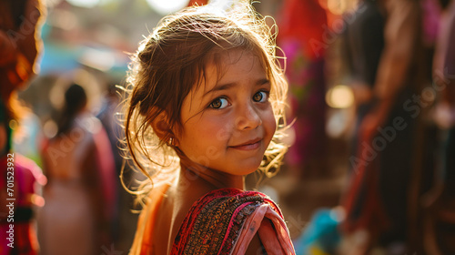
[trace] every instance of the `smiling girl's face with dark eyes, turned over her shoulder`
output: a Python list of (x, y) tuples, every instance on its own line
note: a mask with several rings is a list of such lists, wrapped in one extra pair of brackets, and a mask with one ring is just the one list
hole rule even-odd
[(259, 167), (275, 132), (270, 83), (258, 56), (247, 51), (231, 50), (220, 61), (221, 70), (209, 63), (205, 86), (185, 98), (177, 147), (198, 165), (247, 175)]

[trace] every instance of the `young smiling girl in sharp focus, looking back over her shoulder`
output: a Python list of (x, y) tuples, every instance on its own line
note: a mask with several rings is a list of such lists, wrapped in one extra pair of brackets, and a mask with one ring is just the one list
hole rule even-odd
[(258, 168), (273, 175), (287, 149), (278, 138), (288, 85), (276, 60), (249, 5), (187, 8), (139, 46), (126, 145), (148, 181), (130, 254), (295, 253), (278, 206), (243, 190)]

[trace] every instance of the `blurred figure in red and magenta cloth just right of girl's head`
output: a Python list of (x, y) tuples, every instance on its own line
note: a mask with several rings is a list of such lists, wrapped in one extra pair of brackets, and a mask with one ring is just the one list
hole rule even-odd
[(278, 19), (278, 45), (286, 55), (286, 76), (289, 83), (289, 119), (294, 144), (289, 148), (286, 167), (295, 179), (323, 176), (327, 166), (326, 103), (324, 42), (327, 27), (326, 11), (318, 1), (286, 0)]

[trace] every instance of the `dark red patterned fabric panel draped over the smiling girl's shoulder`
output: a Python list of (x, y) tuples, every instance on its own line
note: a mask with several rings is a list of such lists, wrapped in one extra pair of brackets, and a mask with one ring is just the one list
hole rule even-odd
[(278, 206), (262, 193), (239, 189), (208, 193), (188, 212), (171, 254), (230, 254), (245, 219), (261, 203), (282, 218)]

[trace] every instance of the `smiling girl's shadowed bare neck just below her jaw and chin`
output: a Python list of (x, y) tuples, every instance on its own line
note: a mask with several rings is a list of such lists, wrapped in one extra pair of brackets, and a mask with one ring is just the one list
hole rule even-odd
[(180, 163), (180, 179), (186, 181), (197, 182), (198, 184), (206, 185), (207, 189), (245, 189), (245, 178), (243, 176), (230, 175), (215, 169), (206, 168), (197, 165), (194, 162), (186, 164)]

